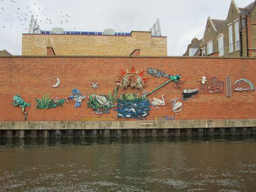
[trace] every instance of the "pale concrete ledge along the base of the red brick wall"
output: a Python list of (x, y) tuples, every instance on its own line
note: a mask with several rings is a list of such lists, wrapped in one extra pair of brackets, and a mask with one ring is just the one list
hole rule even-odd
[(0, 130), (251, 128), (256, 119), (169, 121), (0, 122)]

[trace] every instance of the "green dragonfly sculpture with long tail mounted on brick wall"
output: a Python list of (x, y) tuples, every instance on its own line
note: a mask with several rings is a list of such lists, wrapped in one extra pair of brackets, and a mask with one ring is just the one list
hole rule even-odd
[(164, 73), (163, 71), (154, 69), (154, 68), (149, 68), (148, 70), (149, 75), (152, 75), (153, 77), (166, 77), (169, 80), (166, 81), (164, 84), (158, 86), (157, 88), (155, 88), (153, 91), (149, 92), (147, 94), (147, 96), (149, 96), (150, 94), (154, 93), (155, 91), (159, 90), (161, 87), (165, 86), (166, 84), (170, 83), (171, 81), (174, 81), (175, 83), (175, 87), (180, 89), (180, 85), (179, 84), (183, 84), (185, 81), (181, 81), (181, 76), (180, 75), (169, 75), (167, 73)]

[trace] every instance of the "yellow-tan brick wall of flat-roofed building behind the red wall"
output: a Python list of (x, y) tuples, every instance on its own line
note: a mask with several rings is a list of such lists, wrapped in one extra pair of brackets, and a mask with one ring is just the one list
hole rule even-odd
[(167, 37), (135, 31), (130, 36), (22, 34), (22, 55), (47, 55), (47, 47), (56, 55), (128, 56), (140, 49), (140, 55), (167, 56)]

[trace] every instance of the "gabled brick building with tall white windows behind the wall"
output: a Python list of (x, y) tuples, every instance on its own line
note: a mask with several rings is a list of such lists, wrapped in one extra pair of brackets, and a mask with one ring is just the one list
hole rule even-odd
[(231, 0), (225, 20), (208, 17), (203, 38), (194, 38), (183, 56), (256, 57), (256, 1), (238, 8)]

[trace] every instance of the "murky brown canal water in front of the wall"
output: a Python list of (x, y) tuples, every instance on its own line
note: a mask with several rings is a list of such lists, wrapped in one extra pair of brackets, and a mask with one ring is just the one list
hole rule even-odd
[(256, 137), (1, 139), (0, 191), (256, 191)]

